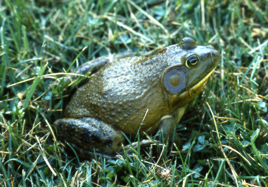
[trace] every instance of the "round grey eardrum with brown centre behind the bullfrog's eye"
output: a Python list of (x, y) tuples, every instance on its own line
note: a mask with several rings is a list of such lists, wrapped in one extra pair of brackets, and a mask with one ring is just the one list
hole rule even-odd
[(171, 93), (180, 92), (186, 85), (186, 74), (178, 67), (170, 68), (163, 76), (163, 85)]

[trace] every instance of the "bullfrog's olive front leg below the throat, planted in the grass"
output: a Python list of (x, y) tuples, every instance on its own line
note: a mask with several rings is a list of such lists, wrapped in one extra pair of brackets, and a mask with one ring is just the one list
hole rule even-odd
[[(158, 129), (161, 130), (160, 132), (163, 133), (164, 142), (166, 142), (168, 137), (169, 137), (169, 141), (172, 141), (174, 131), (176, 130), (175, 126), (178, 124), (181, 117), (183, 116), (185, 109), (186, 109), (186, 106), (180, 107), (180, 108), (176, 109), (172, 114), (164, 115), (160, 119)], [(176, 143), (176, 144), (179, 141), (179, 137), (178, 137), (178, 134), (176, 133), (176, 131), (175, 131), (173, 140), (174, 140), (174, 143)]]

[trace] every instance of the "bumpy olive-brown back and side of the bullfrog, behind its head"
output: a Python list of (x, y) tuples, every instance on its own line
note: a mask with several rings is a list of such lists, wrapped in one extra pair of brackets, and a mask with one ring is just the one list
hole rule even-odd
[[(159, 96), (163, 94), (159, 86), (165, 66), (147, 57), (111, 62), (77, 90), (65, 109), (65, 116), (96, 117), (113, 123), (125, 133), (130, 129), (137, 132), (137, 124), (142, 122), (147, 109), (149, 113), (159, 110), (156, 114), (161, 114), (165, 107), (163, 100), (154, 100), (163, 99)], [(156, 125), (155, 119), (146, 121), (151, 121), (149, 126)]]

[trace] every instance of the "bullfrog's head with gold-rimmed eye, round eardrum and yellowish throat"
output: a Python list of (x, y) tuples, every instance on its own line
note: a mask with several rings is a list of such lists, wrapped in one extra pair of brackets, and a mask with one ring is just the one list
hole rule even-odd
[(161, 82), (170, 107), (181, 107), (192, 100), (204, 87), (219, 63), (219, 52), (208, 46), (197, 46), (191, 38), (183, 38), (169, 46)]

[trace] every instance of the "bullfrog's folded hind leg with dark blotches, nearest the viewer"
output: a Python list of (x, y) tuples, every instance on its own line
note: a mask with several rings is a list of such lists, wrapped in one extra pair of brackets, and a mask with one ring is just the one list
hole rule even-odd
[(122, 149), (124, 137), (120, 129), (97, 118), (63, 118), (55, 121), (53, 125), (58, 136), (75, 145), (81, 156), (94, 153), (94, 149), (98, 153), (115, 155)]

